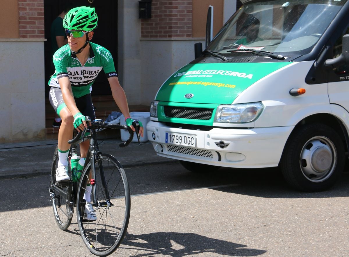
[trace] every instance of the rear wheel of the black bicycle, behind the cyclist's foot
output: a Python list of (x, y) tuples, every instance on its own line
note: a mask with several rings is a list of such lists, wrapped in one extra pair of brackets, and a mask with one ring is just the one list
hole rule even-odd
[[(69, 152), (70, 154), (70, 152)], [(52, 168), (51, 168), (51, 180), (50, 180), (50, 196), (53, 207), (54, 219), (57, 225), (62, 230), (67, 230), (72, 222), (74, 214), (74, 194), (73, 183), (67, 182), (57, 184), (55, 175), (58, 163), (58, 145), (54, 151)], [(70, 170), (70, 167), (69, 167)], [(55, 186), (54, 186), (55, 185)], [(60, 192), (61, 189), (65, 194)]]

